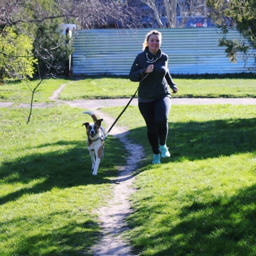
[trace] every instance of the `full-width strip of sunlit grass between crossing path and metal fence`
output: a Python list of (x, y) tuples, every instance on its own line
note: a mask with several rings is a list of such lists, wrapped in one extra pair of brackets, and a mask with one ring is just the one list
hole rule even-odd
[[(179, 93), (173, 97), (256, 97), (256, 80), (253, 75), (234, 76), (173, 76)], [(31, 85), (38, 80), (31, 82)], [(68, 84), (60, 95), (62, 100), (129, 98), (136, 92), (138, 83), (128, 77), (74, 77), (49, 79), (40, 84), (35, 102), (52, 102), (49, 97), (61, 84)], [(22, 82), (0, 86), (0, 100), (29, 104), (31, 91)]]

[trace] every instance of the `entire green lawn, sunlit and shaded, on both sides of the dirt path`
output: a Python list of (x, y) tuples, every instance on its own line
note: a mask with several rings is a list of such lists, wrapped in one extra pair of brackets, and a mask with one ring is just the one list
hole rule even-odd
[[(205, 87), (207, 95), (213, 95), (215, 79), (202, 78), (177, 77), (182, 79), (180, 93), (189, 81), (196, 81), (202, 82), (196, 92)], [(244, 92), (234, 86), (250, 79), (232, 81), (229, 97), (246, 93), (255, 97), (253, 80)], [(75, 92), (69, 99), (79, 99), (86, 88), (95, 90), (95, 84), (83, 85), (87, 80), (49, 81), (35, 100), (46, 101), (63, 82), (68, 85), (61, 97), (65, 99), (69, 91)], [(108, 84), (113, 78), (95, 78), (95, 83), (99, 81), (107, 89), (113, 86)], [(136, 90), (138, 84), (131, 83), (132, 88), (125, 81), (127, 94)], [(0, 93), (8, 89), (4, 100), (20, 103), (23, 97), (27, 100), (26, 90), (20, 88), (19, 83), (4, 84)], [(100, 236), (95, 209), (111, 198), (111, 179), (126, 156), (124, 145), (110, 134), (99, 174), (92, 176), (82, 111), (68, 106), (35, 108), (27, 125), (28, 109), (0, 108), (0, 255), (92, 255), (90, 248)], [(122, 108), (104, 111), (116, 117)], [(151, 164), (138, 108), (129, 106), (116, 125), (129, 127), (129, 137), (146, 152), (135, 172), (134, 212), (127, 218), (131, 230), (125, 232), (134, 254), (256, 254), (255, 106), (172, 106), (167, 141), (172, 157), (161, 159), (161, 165)]]

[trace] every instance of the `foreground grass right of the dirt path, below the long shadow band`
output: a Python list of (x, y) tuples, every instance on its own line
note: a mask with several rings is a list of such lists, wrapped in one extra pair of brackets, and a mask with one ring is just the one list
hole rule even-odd
[(184, 161), (143, 172), (129, 217), (137, 252), (255, 255), (253, 158), (240, 154)]

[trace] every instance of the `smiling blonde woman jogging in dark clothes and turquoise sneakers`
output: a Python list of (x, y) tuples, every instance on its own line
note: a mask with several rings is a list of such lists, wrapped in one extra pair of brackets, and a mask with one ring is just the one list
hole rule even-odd
[(170, 88), (173, 93), (178, 92), (168, 70), (168, 56), (160, 49), (161, 41), (159, 31), (147, 33), (143, 51), (134, 60), (129, 74), (131, 81), (140, 82), (138, 106), (147, 125), (153, 164), (161, 163), (161, 157), (170, 157), (166, 147), (168, 115), (171, 109)]

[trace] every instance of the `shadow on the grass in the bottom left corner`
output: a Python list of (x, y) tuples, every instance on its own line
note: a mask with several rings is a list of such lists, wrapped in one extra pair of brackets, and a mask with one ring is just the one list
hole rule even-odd
[[(11, 245), (10, 247), (13, 247), (14, 250), (12, 248), (8, 253), (9, 248), (6, 248), (3, 253), (0, 249), (1, 255), (93, 255), (89, 252), (89, 248), (100, 236), (99, 224), (87, 214), (82, 215), (83, 221), (78, 223), (75, 220), (67, 220), (67, 223), (61, 227), (52, 221), (54, 219), (60, 220), (63, 216), (68, 215), (70, 216), (69, 211), (54, 211), (52, 214), (45, 214), (44, 217), (13, 218), (6, 223), (2, 222), (1, 229), (3, 231), (10, 226), (22, 227), (24, 234), (13, 234), (16, 237), (15, 243), (8, 245)], [(52, 227), (55, 225), (56, 227)], [(8, 234), (5, 239), (8, 239)]]

